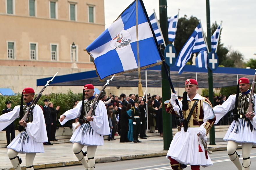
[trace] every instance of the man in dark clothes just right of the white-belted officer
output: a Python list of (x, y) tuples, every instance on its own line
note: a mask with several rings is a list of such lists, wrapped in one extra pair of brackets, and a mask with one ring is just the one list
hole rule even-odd
[(148, 137), (146, 135), (146, 118), (147, 118), (147, 115), (146, 115), (147, 105), (146, 105), (146, 103), (144, 104), (143, 100), (139, 101), (139, 108), (140, 108), (140, 111), (141, 111), (141, 122), (142, 122), (141, 130), (140, 130), (140, 138), (141, 139), (147, 139), (146, 137)]

